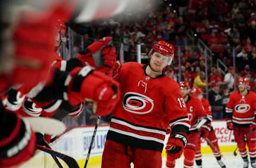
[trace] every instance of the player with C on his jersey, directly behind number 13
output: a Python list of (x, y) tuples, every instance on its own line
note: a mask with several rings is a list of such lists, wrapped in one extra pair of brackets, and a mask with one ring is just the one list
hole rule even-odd
[[(188, 132), (188, 145), (184, 149), (184, 167), (190, 168), (194, 165), (194, 159), (195, 159), (195, 150), (196, 150), (196, 144), (199, 137), (199, 132), (197, 130), (197, 124), (201, 119), (205, 118), (207, 120), (207, 123), (210, 122), (209, 117), (207, 117), (207, 114), (204, 110), (203, 104), (200, 99), (189, 95), (190, 86), (187, 81), (181, 81), (180, 82), (180, 89), (181, 94), (184, 98), (182, 103), (186, 103), (187, 110), (188, 110), (188, 117), (189, 121), (191, 123), (191, 128), (189, 128)], [(205, 123), (206, 124), (206, 123)], [(200, 128), (202, 137), (206, 137), (209, 134), (209, 131), (203, 126)], [(166, 167), (175, 167), (175, 159), (171, 157), (170, 153), (167, 152), (167, 160), (166, 160)]]

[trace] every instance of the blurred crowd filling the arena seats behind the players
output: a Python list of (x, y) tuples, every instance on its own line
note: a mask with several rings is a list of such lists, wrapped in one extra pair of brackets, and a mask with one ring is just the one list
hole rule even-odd
[[(143, 44), (144, 53), (149, 53), (150, 47), (159, 40), (181, 46), (181, 76), (178, 47), (175, 47), (174, 64), (165, 73), (176, 81), (189, 81), (191, 87), (199, 87), (203, 91), (207, 84), (209, 97), (214, 98), (210, 99), (214, 111), (223, 112), (220, 106), (230, 91), (236, 89), (239, 77), (249, 78), (250, 89), (256, 91), (256, 1), (159, 0), (157, 4), (149, 1), (145, 12), (128, 12), (103, 24), (99, 22), (102, 20), (80, 28), (85, 34), (84, 44), (90, 44), (89, 37), (111, 35), (114, 41), (124, 44), (126, 62), (136, 61), (137, 44)], [(204, 49), (188, 44), (188, 31), (193, 32), (194, 37), (201, 39), (213, 52), (213, 66), (208, 66), (207, 83)], [(226, 72), (217, 67), (217, 58), (228, 67)], [(210, 61), (209, 57), (207, 59)], [(223, 114), (214, 118), (222, 119)]]

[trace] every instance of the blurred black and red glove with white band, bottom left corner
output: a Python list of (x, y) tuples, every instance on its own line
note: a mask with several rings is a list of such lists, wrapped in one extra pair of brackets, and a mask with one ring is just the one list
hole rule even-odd
[(34, 155), (36, 135), (29, 123), (1, 108), (0, 167), (19, 167)]

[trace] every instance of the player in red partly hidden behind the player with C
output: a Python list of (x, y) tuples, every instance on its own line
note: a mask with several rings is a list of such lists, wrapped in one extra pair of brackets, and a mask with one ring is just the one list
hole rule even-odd
[[(203, 103), (203, 106), (204, 106), (204, 109), (207, 113), (207, 116), (212, 121), (211, 106), (210, 106), (209, 101), (207, 99), (203, 98), (202, 90), (199, 89), (199, 88), (191, 88), (189, 94), (191, 96), (195, 96), (195, 97), (201, 99), (201, 101)], [(208, 141), (207, 141), (207, 144), (211, 147), (213, 155), (216, 157), (218, 164), (222, 168), (225, 168), (226, 165), (223, 163), (223, 161), (221, 159), (221, 153), (220, 153), (220, 148), (219, 148), (219, 145), (218, 145), (218, 139), (215, 135), (215, 132), (212, 128), (211, 123), (206, 124), (206, 125), (202, 125), (202, 128), (205, 128), (209, 131), (209, 135), (205, 138), (210, 140), (213, 145), (209, 144)], [(202, 157), (202, 154), (201, 154), (201, 140), (200, 140), (200, 137), (198, 137), (198, 141), (197, 141), (197, 144), (196, 144), (196, 155), (195, 155), (195, 160), (196, 160), (197, 167), (202, 167), (202, 158), (201, 157)]]

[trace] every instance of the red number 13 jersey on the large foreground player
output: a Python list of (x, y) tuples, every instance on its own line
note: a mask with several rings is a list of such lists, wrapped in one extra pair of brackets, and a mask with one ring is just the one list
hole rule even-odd
[(162, 152), (167, 127), (188, 129), (190, 122), (178, 83), (166, 75), (151, 78), (146, 66), (136, 62), (122, 65), (117, 79), (121, 100), (113, 112), (107, 139)]

